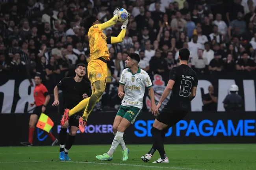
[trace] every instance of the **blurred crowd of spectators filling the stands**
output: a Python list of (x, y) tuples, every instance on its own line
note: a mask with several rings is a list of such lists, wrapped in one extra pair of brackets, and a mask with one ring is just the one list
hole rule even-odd
[[(0, 72), (40, 74), (53, 93), (76, 64), (89, 62), (84, 18), (94, 14), (103, 23), (117, 7), (127, 9), (130, 21), (123, 42), (109, 45), (111, 97), (129, 53), (138, 53), (139, 67), (152, 75), (168, 75), (182, 47), (191, 51), (189, 66), (198, 74), (256, 70), (256, 0), (2, 0)], [(104, 33), (117, 36), (121, 25)]]

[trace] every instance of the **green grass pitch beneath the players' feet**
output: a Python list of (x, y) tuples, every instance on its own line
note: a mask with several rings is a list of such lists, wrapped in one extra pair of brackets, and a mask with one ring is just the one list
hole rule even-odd
[(59, 160), (58, 146), (0, 147), (0, 170), (255, 170), (256, 144), (187, 144), (165, 145), (169, 164), (152, 164), (140, 157), (150, 145), (127, 145), (129, 159), (122, 161), (121, 147), (112, 161), (95, 159), (109, 150), (109, 145), (76, 145), (69, 151), (70, 162)]

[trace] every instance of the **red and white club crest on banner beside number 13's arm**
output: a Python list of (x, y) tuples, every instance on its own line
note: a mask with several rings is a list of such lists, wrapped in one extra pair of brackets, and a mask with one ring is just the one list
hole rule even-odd
[[(148, 78), (146, 79), (146, 82), (149, 81)], [(156, 104), (158, 104), (158, 101), (161, 98), (161, 95), (163, 94), (163, 91), (165, 90), (165, 82), (163, 81), (163, 78), (161, 75), (154, 75), (154, 80), (152, 81), (152, 88), (154, 90), (155, 93), (155, 102)], [(171, 93), (167, 96), (167, 98), (162, 102), (160, 110), (163, 109), (163, 107), (165, 106), (165, 104), (169, 101), (171, 96)], [(148, 108), (148, 110), (151, 110), (151, 100), (150, 97), (147, 96), (146, 97), (146, 106)]]

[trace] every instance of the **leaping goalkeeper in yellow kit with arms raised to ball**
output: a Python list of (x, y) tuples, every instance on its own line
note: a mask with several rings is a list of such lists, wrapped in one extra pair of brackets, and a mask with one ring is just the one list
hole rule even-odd
[(128, 19), (122, 23), (122, 31), (117, 37), (106, 37), (102, 32), (107, 27), (117, 23), (119, 11), (117, 8), (114, 11), (114, 16), (109, 21), (99, 24), (96, 16), (89, 15), (85, 20), (85, 29), (88, 30), (90, 60), (88, 63), (88, 77), (93, 86), (91, 97), (84, 99), (71, 110), (66, 109), (63, 118), (61, 119), (61, 126), (69, 120), (71, 115), (85, 109), (83, 116), (79, 119), (79, 129), (83, 133), (86, 125), (87, 118), (93, 110), (95, 104), (99, 101), (106, 88), (106, 80), (108, 77), (107, 61), (109, 60), (108, 44), (122, 42), (126, 27), (129, 22)]

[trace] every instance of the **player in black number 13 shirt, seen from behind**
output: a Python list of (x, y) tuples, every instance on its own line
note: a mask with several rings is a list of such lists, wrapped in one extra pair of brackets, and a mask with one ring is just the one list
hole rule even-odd
[(190, 102), (195, 98), (197, 92), (197, 74), (187, 65), (189, 55), (190, 52), (187, 48), (180, 49), (180, 65), (170, 71), (169, 82), (156, 106), (156, 112), (172, 91), (171, 97), (163, 110), (157, 115), (151, 128), (154, 144), (148, 154), (141, 157), (145, 162), (149, 161), (154, 152), (158, 150), (161, 158), (153, 163), (169, 163), (163, 148), (163, 138), (170, 127), (187, 115)]

